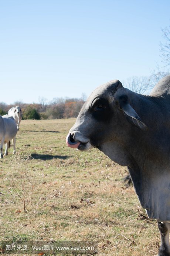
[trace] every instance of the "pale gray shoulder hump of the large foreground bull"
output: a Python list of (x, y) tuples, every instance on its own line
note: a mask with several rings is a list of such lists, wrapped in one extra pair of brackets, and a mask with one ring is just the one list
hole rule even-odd
[(150, 93), (151, 96), (170, 96), (170, 75), (161, 79)]

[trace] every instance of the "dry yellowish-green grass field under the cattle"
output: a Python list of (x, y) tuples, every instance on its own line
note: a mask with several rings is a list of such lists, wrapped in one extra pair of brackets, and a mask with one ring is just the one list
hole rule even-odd
[(157, 223), (125, 187), (126, 167), (68, 148), (74, 122), (21, 121), (17, 154), (0, 160), (1, 242), (96, 241), (100, 256), (156, 255)]

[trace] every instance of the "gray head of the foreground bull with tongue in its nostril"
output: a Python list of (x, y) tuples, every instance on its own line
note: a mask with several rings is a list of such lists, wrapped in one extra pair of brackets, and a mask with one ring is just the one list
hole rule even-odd
[(66, 139), (67, 145), (82, 151), (97, 147), (112, 160), (127, 165), (126, 160), (119, 161), (113, 157), (115, 150), (121, 152), (123, 150), (122, 158), (126, 150), (122, 138), (126, 140), (127, 130), (132, 130), (134, 126), (142, 131), (147, 129), (131, 106), (132, 93), (123, 88), (118, 80), (110, 81), (95, 89), (82, 107), (75, 125), (70, 129)]

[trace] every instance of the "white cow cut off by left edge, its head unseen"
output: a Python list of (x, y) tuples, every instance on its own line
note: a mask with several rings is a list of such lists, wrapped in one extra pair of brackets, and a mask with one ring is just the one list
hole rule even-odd
[(0, 158), (3, 158), (3, 144), (6, 144), (5, 155), (8, 154), (8, 148), (10, 145), (10, 140), (13, 140), (14, 151), (16, 152), (16, 134), (17, 134), (17, 125), (13, 118), (10, 115), (0, 115)]

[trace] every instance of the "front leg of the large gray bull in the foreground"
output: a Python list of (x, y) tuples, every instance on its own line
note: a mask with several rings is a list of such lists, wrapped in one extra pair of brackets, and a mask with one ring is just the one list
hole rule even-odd
[(158, 256), (170, 256), (170, 244), (169, 244), (169, 232), (170, 232), (170, 223), (157, 222), (159, 228), (161, 244), (159, 247)]

